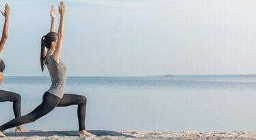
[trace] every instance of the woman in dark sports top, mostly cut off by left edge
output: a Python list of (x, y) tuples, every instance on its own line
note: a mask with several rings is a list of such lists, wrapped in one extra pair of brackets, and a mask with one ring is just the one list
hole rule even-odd
[[(2, 38), (0, 40), (0, 52), (3, 50), (3, 47), (5, 46), (5, 42), (8, 38), (8, 26), (9, 26), (9, 15), (10, 15), (10, 8), (8, 4), (5, 4), (5, 12), (2, 12), (3, 16), (5, 17), (5, 22), (3, 25), (3, 33)], [(3, 81), (3, 70), (5, 69), (5, 64), (3, 59), (0, 59), (0, 85)], [(0, 102), (13, 102), (12, 108), (14, 111), (15, 117), (21, 116), (21, 96), (19, 94), (16, 94), (14, 92), (8, 92), (5, 90), (0, 90)], [(16, 132), (22, 132), (25, 131), (23, 126), (17, 126)]]

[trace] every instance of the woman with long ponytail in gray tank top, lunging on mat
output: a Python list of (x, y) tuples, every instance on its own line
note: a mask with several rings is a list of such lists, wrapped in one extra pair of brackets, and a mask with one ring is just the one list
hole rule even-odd
[[(40, 117), (46, 115), (52, 111), (55, 107), (66, 107), (73, 104), (78, 105), (77, 115), (79, 120), (79, 136), (94, 136), (90, 132), (86, 131), (85, 128), (85, 115), (86, 115), (86, 97), (75, 95), (75, 94), (64, 94), (64, 87), (66, 85), (66, 66), (60, 60), (60, 53), (62, 51), (62, 41), (64, 37), (64, 14), (65, 5), (60, 2), (60, 25), (57, 33), (54, 32), (55, 22), (55, 10), (51, 7), (51, 31), (43, 36), (41, 39), (41, 55), (40, 63), (42, 71), (44, 70), (44, 64), (49, 70), (51, 76), (51, 87), (47, 92), (44, 93), (42, 103), (28, 113), (21, 117), (17, 117), (10, 122), (0, 126), (0, 137), (3, 135), (3, 130), (19, 126), (21, 124), (34, 122)], [(47, 48), (47, 54), (45, 55), (44, 47)]]

